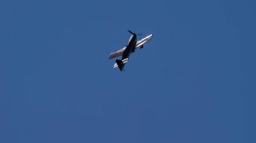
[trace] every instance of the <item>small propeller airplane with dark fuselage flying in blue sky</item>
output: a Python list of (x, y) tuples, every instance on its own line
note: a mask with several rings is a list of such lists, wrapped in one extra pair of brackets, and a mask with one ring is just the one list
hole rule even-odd
[(153, 36), (153, 34), (151, 34), (151, 35), (146, 36), (145, 38), (137, 41), (137, 35), (141, 35), (141, 34), (135, 34), (135, 33), (131, 32), (130, 30), (128, 30), (128, 32), (130, 32), (132, 34), (128, 41), (128, 44), (124, 48), (117, 50), (114, 53), (111, 53), (108, 58), (108, 59), (113, 59), (118, 56), (122, 56), (122, 60), (116, 59), (116, 64), (114, 64), (114, 68), (119, 67), (121, 72), (124, 69), (126, 62), (128, 62), (130, 54), (134, 53), (135, 49), (137, 49), (138, 47), (140, 47), (140, 49), (142, 49), (144, 44), (146, 42), (148, 42), (149, 40), (151, 41), (152, 36)]

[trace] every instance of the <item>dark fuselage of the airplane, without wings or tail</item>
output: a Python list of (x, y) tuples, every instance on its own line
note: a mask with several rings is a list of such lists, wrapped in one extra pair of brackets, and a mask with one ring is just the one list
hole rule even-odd
[(134, 50), (134, 46), (135, 46), (136, 42), (137, 42), (137, 35), (136, 34), (131, 35), (129, 42), (126, 45), (125, 51), (122, 55), (122, 60), (129, 58), (131, 51)]

